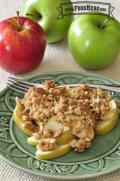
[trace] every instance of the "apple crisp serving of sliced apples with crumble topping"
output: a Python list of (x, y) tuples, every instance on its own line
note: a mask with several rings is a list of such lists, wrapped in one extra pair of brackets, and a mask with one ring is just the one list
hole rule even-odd
[(103, 134), (114, 127), (108, 128), (109, 122), (115, 123), (118, 113), (115, 101), (100, 87), (57, 87), (53, 80), (46, 80), (43, 88), (29, 88), (22, 100), (16, 98), (13, 115), (16, 124), (32, 135), (28, 143), (37, 145), (39, 157), (54, 151), (60, 156), (71, 148), (83, 152), (97, 132)]

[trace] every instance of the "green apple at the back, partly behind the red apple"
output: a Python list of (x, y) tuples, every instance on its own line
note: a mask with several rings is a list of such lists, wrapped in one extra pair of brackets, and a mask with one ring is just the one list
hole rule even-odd
[(57, 19), (59, 14), (57, 8), (60, 7), (61, 3), (66, 2), (71, 1), (26, 0), (22, 7), (22, 15), (27, 16), (27, 14), (36, 14), (36, 16), (27, 17), (38, 22), (38, 24), (43, 27), (46, 32), (48, 43), (55, 43), (67, 36), (69, 26), (73, 19), (72, 16), (64, 16), (63, 19)]

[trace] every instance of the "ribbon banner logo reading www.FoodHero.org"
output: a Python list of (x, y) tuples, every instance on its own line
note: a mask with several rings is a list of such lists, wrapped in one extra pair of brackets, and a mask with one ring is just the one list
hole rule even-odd
[(58, 9), (57, 19), (62, 19), (64, 16), (80, 15), (86, 13), (104, 13), (113, 16), (114, 7), (111, 3), (95, 2), (95, 1), (78, 1), (73, 3), (61, 3)]

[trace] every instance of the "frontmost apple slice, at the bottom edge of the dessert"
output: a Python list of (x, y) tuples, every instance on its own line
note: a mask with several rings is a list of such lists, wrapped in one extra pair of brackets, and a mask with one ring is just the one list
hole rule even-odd
[(49, 159), (60, 157), (68, 153), (70, 150), (71, 150), (71, 147), (69, 144), (60, 145), (53, 151), (41, 151), (40, 149), (38, 149), (36, 151), (36, 158), (49, 160)]

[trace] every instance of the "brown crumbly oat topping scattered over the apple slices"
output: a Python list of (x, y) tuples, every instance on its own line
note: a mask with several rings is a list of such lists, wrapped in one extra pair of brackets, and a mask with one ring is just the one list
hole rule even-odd
[[(76, 139), (70, 145), (75, 151), (82, 152), (91, 146), (94, 128), (109, 111), (110, 100), (111, 96), (99, 87), (93, 89), (81, 84), (76, 88), (59, 88), (53, 80), (47, 80), (43, 88), (29, 88), (24, 98), (17, 98), (16, 102), (22, 110), (23, 126), (46, 138), (39, 141), (41, 150), (55, 149), (56, 138), (71, 130)], [(63, 128), (45, 129), (45, 124), (54, 116)]]

